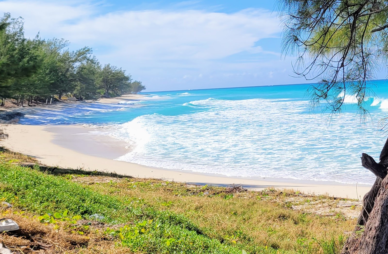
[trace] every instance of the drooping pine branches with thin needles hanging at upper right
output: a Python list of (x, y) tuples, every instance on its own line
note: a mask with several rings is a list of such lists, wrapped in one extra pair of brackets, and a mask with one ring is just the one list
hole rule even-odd
[(283, 54), (297, 57), (294, 72), (318, 81), (313, 108), (341, 112), (346, 98), (366, 116), (370, 80), (388, 57), (388, 5), (381, 0), (278, 0)]

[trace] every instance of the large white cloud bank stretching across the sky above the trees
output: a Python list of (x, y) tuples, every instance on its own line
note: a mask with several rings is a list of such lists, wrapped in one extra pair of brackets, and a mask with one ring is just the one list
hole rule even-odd
[[(81, 2), (81, 3), (80, 3)], [(251, 71), (265, 62), (228, 62), (224, 58), (247, 52), (272, 54), (255, 45), (279, 36), (276, 14), (264, 9), (235, 13), (206, 10), (126, 10), (104, 12), (92, 2), (8, 0), (0, 10), (25, 19), (26, 35), (65, 38), (74, 47), (91, 46), (102, 63), (123, 66), (134, 77), (168, 80), (187, 75), (213, 77), (212, 72)], [(185, 4), (192, 3), (192, 1)], [(97, 50), (98, 49), (98, 50)], [(267, 71), (268, 72), (268, 71)], [(166, 74), (168, 73), (168, 75)], [(201, 74), (199, 74), (201, 73)], [(271, 75), (270, 75), (271, 76)]]

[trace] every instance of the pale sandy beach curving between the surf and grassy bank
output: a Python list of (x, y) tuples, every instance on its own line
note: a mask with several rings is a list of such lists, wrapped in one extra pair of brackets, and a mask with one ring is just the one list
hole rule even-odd
[(113, 160), (127, 152), (125, 143), (90, 134), (89, 131), (93, 130), (90, 128), (77, 125), (2, 125), (0, 127), (9, 134), (9, 139), (2, 142), (2, 146), (33, 156), (48, 166), (108, 171), (132, 177), (161, 178), (195, 184), (242, 184), (256, 190), (269, 187), (294, 189), (310, 194), (329, 194), (344, 198), (360, 198), (371, 189), (370, 185), (276, 178), (256, 180), (152, 168)]

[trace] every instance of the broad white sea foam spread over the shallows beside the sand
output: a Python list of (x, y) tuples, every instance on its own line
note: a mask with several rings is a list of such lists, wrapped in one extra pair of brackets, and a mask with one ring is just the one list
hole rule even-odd
[(370, 143), (365, 139), (376, 135), (373, 129), (354, 130), (352, 113), (328, 125), (325, 117), (304, 113), (307, 101), (208, 98), (182, 106), (211, 110), (142, 115), (118, 125), (115, 135), (135, 137), (131, 142), (141, 148), (118, 160), (239, 177), (374, 180), (357, 159), (358, 148)]

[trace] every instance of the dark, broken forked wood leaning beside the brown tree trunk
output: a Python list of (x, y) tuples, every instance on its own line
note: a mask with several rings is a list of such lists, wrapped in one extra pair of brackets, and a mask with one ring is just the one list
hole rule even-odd
[[(369, 221), (369, 218), (370, 218), (372, 212), (375, 213), (373, 208), (374, 208), (374, 206), (377, 202), (377, 199), (378, 199), (378, 194), (380, 191), (381, 182), (383, 181), (383, 179), (387, 175), (388, 139), (386, 140), (385, 145), (384, 145), (383, 149), (381, 150), (379, 159), (380, 159), (379, 163), (376, 163), (376, 161), (366, 153), (363, 153), (361, 156), (362, 166), (364, 166), (364, 168), (367, 168), (372, 173), (374, 173), (374, 175), (376, 175), (376, 180), (374, 181), (374, 184), (373, 184), (371, 190), (367, 194), (365, 194), (365, 196), (363, 198), (362, 210), (361, 210), (361, 213), (359, 215), (359, 218), (357, 219), (357, 226), (355, 227), (355, 230), (354, 230), (355, 232), (361, 230), (363, 226), (365, 226), (365, 225), (367, 226), (368, 225), (367, 221)], [(387, 194), (387, 197), (388, 197), (388, 194)], [(388, 199), (387, 199), (387, 201), (388, 201)], [(388, 202), (387, 202), (387, 204), (388, 204)], [(379, 205), (379, 206), (381, 206), (381, 205)], [(387, 218), (388, 218), (388, 216), (387, 216)], [(387, 228), (387, 232), (388, 232), (388, 228)], [(375, 253), (375, 252), (357, 252), (358, 250), (361, 251), (361, 249), (359, 249), (359, 243), (360, 243), (359, 241), (360, 241), (360, 239), (358, 239), (356, 237), (355, 233), (350, 235), (345, 242), (345, 245), (341, 251), (341, 254), (353, 254), (353, 253), (360, 253), (360, 254), (361, 253), (362, 254), (371, 253), (372, 254), (372, 253)], [(388, 252), (388, 249), (385, 249), (385, 252), (381, 252), (381, 253), (387, 253), (387, 252)]]

